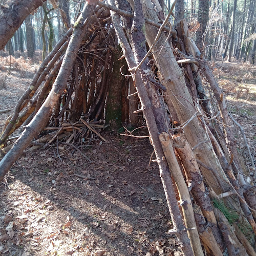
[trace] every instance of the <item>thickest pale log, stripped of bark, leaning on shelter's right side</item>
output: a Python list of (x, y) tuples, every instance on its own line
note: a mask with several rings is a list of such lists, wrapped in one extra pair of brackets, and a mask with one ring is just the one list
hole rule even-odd
[[(150, 19), (155, 19), (154, 21), (158, 22), (151, 2), (145, 1), (144, 3), (146, 7), (145, 16)], [(151, 46), (155, 40), (158, 30), (148, 24), (145, 24), (145, 29), (148, 45)], [(162, 48), (162, 46), (164, 47)], [(158, 50), (161, 48), (161, 54), (158, 54)], [(156, 54), (153, 56), (157, 59), (157, 67), (164, 77), (163, 84), (167, 89), (165, 101), (167, 105), (170, 105), (169, 101), (172, 101), (181, 123), (190, 120), (190, 122), (184, 127), (184, 134), (190, 146), (194, 147), (198, 143), (208, 140), (208, 137), (195, 117), (196, 109), (194, 107), (193, 100), (187, 90), (182, 71), (178, 66), (172, 50), (170, 49), (171, 46), (166, 42), (166, 37), (162, 34), (154, 48), (154, 52), (156, 52)], [(215, 184), (212, 187), (214, 187), (217, 194), (221, 194), (228, 181), (225, 178), (225, 174), (219, 161), (216, 160), (216, 155), (212, 146), (209, 143), (204, 143), (200, 148), (196, 148), (194, 153), (197, 159), (204, 162), (206, 166), (215, 169), (219, 177), (223, 178), (219, 179), (209, 169), (201, 167), (206, 182), (208, 184)]]

